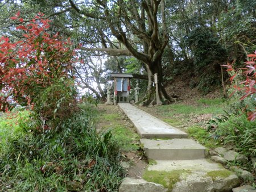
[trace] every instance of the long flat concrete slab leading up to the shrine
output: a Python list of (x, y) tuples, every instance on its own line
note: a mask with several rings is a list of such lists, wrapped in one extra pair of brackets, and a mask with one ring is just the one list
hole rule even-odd
[(142, 138), (187, 138), (187, 133), (163, 122), (129, 103), (118, 103)]

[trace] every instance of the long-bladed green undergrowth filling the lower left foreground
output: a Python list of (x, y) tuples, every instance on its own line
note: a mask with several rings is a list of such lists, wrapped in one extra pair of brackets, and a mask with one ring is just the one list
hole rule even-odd
[(88, 111), (80, 108), (61, 131), (32, 128), (0, 141), (1, 191), (117, 190), (125, 173), (119, 149), (111, 132), (95, 131)]

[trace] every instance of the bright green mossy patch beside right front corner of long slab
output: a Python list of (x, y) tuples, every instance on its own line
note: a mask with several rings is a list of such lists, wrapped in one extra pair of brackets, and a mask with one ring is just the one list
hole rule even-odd
[(207, 148), (212, 149), (219, 147), (220, 145), (218, 141), (212, 139), (212, 137), (210, 137), (210, 133), (202, 127), (192, 126), (187, 129), (187, 132), (189, 137), (193, 137)]

